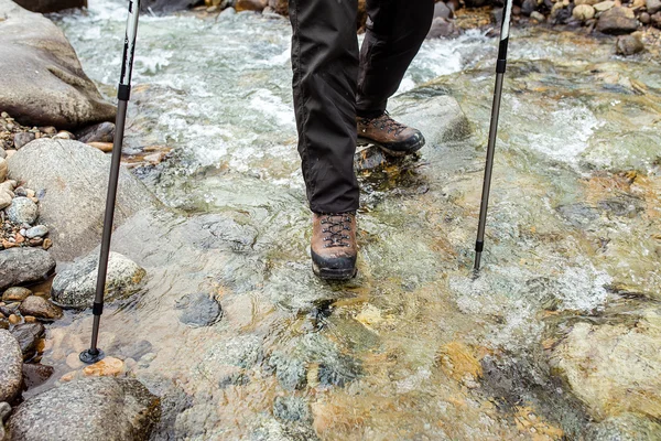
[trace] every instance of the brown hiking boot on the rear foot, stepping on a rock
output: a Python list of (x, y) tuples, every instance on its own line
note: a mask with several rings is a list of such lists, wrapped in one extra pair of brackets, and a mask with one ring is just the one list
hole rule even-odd
[(388, 112), (377, 118), (357, 117), (356, 122), (358, 146), (371, 143), (395, 157), (411, 154), (424, 146), (420, 130), (397, 122)]

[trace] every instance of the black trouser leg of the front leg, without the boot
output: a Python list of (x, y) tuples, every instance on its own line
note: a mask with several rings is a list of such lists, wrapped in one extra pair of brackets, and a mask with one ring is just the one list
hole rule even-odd
[(310, 208), (358, 208), (357, 0), (290, 0), (294, 108)]

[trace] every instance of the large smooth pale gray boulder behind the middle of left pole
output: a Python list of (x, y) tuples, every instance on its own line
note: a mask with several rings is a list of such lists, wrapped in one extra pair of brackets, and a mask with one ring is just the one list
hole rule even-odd
[[(40, 195), (40, 223), (50, 228), (57, 260), (72, 261), (99, 244), (110, 157), (77, 141), (37, 139), (8, 162), (12, 179), (25, 181)], [(154, 204), (149, 190), (122, 168), (115, 226)]]

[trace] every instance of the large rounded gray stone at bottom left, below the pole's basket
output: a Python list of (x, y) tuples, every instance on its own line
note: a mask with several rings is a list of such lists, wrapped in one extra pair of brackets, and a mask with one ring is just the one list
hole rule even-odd
[(10, 441), (148, 440), (159, 398), (133, 378), (85, 378), (39, 394), (9, 419)]

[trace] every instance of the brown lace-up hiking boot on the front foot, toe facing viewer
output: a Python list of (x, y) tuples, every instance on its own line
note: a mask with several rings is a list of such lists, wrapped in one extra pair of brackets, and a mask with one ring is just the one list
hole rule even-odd
[(312, 270), (322, 279), (356, 276), (356, 214), (312, 214)]

